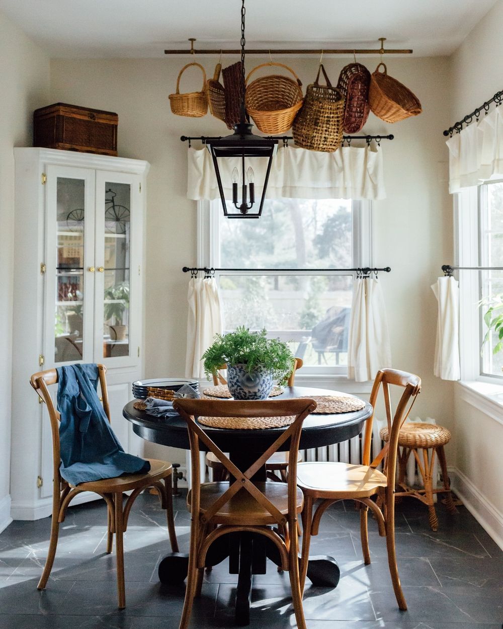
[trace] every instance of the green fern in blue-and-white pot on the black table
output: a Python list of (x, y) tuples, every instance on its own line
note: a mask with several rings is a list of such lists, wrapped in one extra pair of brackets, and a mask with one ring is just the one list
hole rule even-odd
[(217, 334), (202, 355), (208, 378), (227, 365), (229, 391), (235, 399), (265, 399), (275, 382), (282, 384), (294, 365), (288, 345), (267, 338), (267, 331), (250, 331), (245, 326), (228, 334)]

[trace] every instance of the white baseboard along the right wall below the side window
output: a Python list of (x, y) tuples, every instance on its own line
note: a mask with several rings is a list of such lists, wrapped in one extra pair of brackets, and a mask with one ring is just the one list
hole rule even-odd
[(453, 491), (462, 499), (475, 520), (503, 549), (503, 513), (457, 467), (449, 468), (449, 476)]

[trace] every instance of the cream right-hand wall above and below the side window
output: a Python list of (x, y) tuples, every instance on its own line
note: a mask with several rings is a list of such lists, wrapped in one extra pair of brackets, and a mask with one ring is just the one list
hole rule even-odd
[[(502, 29), (503, 1), (499, 0), (451, 57), (452, 104), (447, 126), (503, 89)], [(503, 547), (503, 424), (462, 396), (466, 398), (466, 393), (456, 385), (455, 486)]]

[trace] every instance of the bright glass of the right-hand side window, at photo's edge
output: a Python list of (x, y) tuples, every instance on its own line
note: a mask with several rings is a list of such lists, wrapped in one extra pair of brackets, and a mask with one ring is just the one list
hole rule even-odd
[[(481, 238), (482, 266), (503, 267), (503, 183), (488, 184), (481, 195)], [(482, 341), (487, 333), (484, 313), (489, 304), (495, 305), (503, 299), (503, 271), (485, 271), (482, 274)], [(495, 315), (502, 314), (503, 308)], [(482, 348), (482, 371), (485, 374), (502, 377), (503, 351), (494, 353), (499, 343), (498, 333), (491, 331)]]

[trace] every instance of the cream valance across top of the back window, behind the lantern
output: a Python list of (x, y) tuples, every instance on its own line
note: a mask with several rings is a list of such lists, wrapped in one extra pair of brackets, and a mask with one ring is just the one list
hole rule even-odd
[[(213, 160), (206, 147), (189, 148), (187, 198), (218, 199)], [(232, 171), (241, 170), (240, 158), (220, 159), (219, 167), (226, 198), (232, 198)], [(265, 178), (267, 160), (250, 158), (255, 171), (258, 198)], [(384, 199), (384, 175), (380, 147), (341, 147), (333, 153), (304, 148), (280, 147), (272, 160), (267, 198), (288, 199)]]

